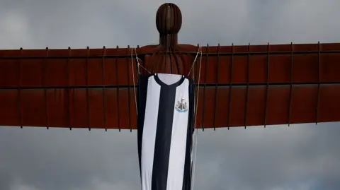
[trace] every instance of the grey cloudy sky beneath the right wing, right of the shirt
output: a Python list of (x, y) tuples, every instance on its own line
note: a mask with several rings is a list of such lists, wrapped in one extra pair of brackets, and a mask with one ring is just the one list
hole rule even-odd
[[(198, 176), (210, 172), (211, 162), (219, 172), (215, 189), (274, 189), (291, 187), (303, 183), (322, 186), (323, 189), (337, 189), (340, 176), (339, 124), (312, 126), (276, 126), (269, 129), (232, 129), (230, 131), (205, 132), (200, 138), (198, 151)], [(206, 134), (207, 133), (207, 134)], [(205, 136), (206, 135), (206, 136)], [(211, 137), (214, 136), (214, 140)], [(215, 148), (214, 148), (215, 147)], [(208, 165), (205, 162), (209, 160)], [(334, 186), (330, 186), (329, 182)], [(331, 180), (333, 179), (333, 180)], [(200, 182), (197, 182), (200, 184)], [(203, 186), (205, 183), (202, 182)], [(205, 187), (211, 188), (208, 183)]]

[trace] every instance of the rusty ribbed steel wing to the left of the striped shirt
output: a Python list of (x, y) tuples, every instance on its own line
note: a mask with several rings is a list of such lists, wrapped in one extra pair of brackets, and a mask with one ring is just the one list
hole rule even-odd
[(137, 129), (130, 52), (0, 51), (0, 125)]

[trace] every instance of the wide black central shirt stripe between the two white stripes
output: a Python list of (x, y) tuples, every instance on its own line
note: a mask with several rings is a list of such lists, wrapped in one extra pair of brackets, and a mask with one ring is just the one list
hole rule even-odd
[(176, 86), (161, 86), (152, 168), (152, 190), (166, 190), (175, 97)]

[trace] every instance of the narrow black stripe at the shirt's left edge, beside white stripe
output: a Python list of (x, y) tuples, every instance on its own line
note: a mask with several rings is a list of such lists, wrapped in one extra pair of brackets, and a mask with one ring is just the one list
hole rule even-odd
[(137, 144), (138, 144), (138, 159), (140, 162), (140, 172), (142, 172), (141, 160), (142, 160), (142, 137), (145, 119), (145, 107), (147, 104), (147, 86), (148, 77), (139, 76), (138, 79), (138, 117), (137, 117)]

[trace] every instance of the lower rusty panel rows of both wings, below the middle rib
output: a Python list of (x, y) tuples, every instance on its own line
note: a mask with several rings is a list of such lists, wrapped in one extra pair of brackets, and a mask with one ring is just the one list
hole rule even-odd
[[(268, 89), (268, 92), (267, 92)], [(133, 89), (1, 90), (0, 124), (136, 129)], [(248, 92), (248, 93), (247, 93)], [(248, 94), (248, 98), (247, 98)], [(21, 98), (19, 98), (19, 95)], [(230, 95), (230, 96), (229, 96)], [(230, 97), (230, 99), (229, 99)], [(197, 128), (340, 121), (340, 85), (246, 85), (199, 90)], [(215, 102), (216, 98), (216, 102)], [(318, 107), (318, 109), (317, 109)]]

